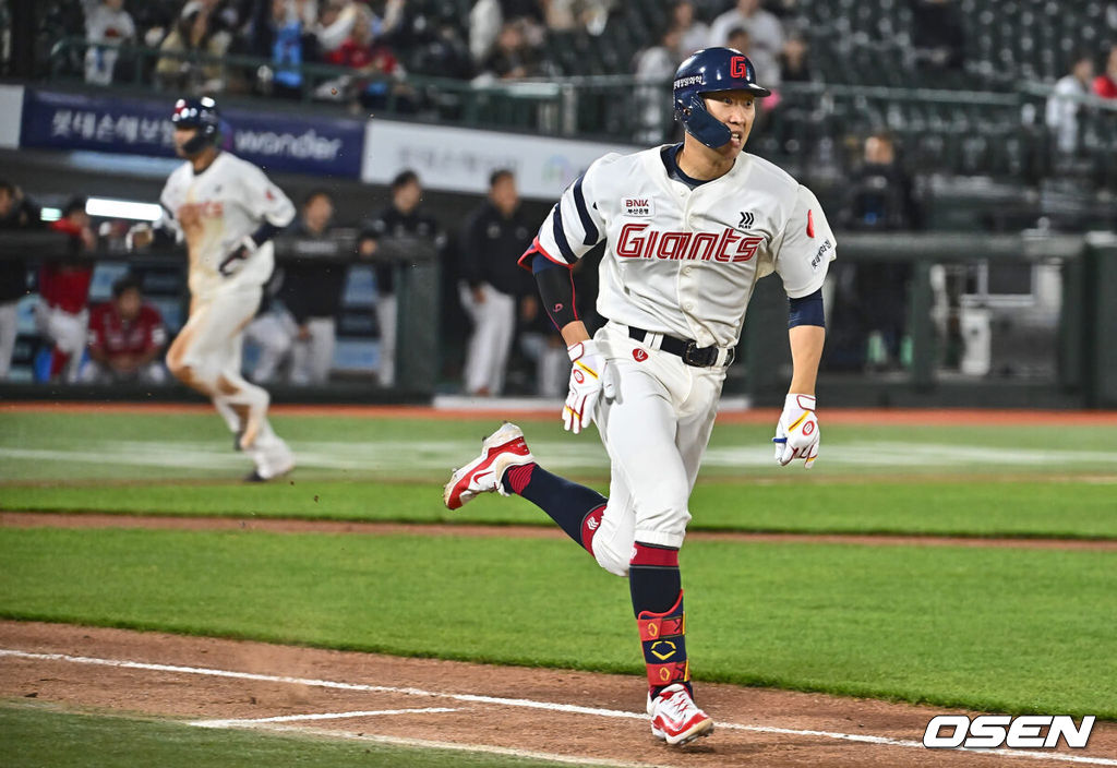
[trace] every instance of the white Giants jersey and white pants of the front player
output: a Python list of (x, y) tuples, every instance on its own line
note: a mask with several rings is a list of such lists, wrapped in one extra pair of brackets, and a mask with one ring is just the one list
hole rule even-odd
[[(801, 298), (822, 287), (834, 258), (818, 200), (781, 169), (742, 153), (728, 173), (691, 190), (668, 175), (661, 148), (594, 162), (538, 233), (560, 263), (607, 240), (598, 311), (609, 323), (594, 339), (619, 396), (600, 397), (593, 414), (612, 462), (593, 553), (618, 575), (628, 573), (636, 540), (682, 544), (724, 362), (756, 280), (775, 271), (787, 296)], [(651, 335), (638, 343), (629, 327)], [(686, 365), (659, 349), (662, 334), (720, 347), (722, 364)]]

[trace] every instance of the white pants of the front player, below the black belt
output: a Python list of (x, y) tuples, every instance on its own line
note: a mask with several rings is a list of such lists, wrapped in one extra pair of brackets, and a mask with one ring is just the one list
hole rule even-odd
[(624, 576), (636, 541), (682, 545), (726, 368), (686, 365), (630, 339), (628, 329), (613, 323), (594, 339), (613, 368), (619, 395), (602, 396), (594, 414), (611, 480), (593, 555), (602, 568)]

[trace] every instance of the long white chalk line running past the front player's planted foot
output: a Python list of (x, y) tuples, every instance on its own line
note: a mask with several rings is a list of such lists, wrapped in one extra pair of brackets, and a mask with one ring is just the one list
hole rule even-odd
[[(13, 649), (0, 649), (0, 656), (12, 656), (16, 659), (38, 659), (42, 661), (65, 661), (75, 664), (94, 664), (98, 666), (116, 666), (130, 670), (149, 670), (153, 672), (174, 672), (180, 674), (199, 674), (210, 678), (233, 678), (237, 680), (257, 680), (270, 683), (289, 683), (294, 685), (309, 685), (315, 688), (330, 688), (343, 691), (367, 691), (373, 693), (400, 693), (403, 695), (433, 697), (452, 699), (455, 701), (468, 701), (480, 704), (496, 704), (499, 707), (522, 707), (525, 709), (542, 709), (551, 712), (570, 712), (573, 714), (592, 714), (599, 718), (623, 718), (628, 720), (643, 720), (648, 716), (643, 712), (626, 712), (615, 709), (600, 709), (596, 707), (577, 707), (575, 704), (561, 704), (552, 701), (534, 701), (532, 699), (505, 699), (500, 697), (484, 697), (471, 693), (439, 693), (437, 691), (424, 691), (420, 688), (397, 688), (392, 685), (367, 685), (364, 683), (343, 683), (334, 680), (314, 680), (308, 678), (288, 678), (275, 674), (258, 674), (254, 672), (231, 672), (229, 670), (214, 670), (204, 666), (176, 666), (173, 664), (149, 664), (137, 661), (121, 661), (116, 659), (95, 659), (90, 656), (70, 656), (64, 653), (30, 653)], [(926, 749), (919, 741), (908, 739), (892, 739), (886, 736), (865, 736), (860, 733), (841, 733), (834, 731), (799, 730), (794, 728), (775, 728), (772, 726), (742, 726), (734, 722), (719, 722), (717, 728), (741, 731), (755, 731), (758, 733), (785, 733), (789, 736), (815, 736), (828, 739), (839, 739), (842, 741), (856, 741), (860, 743), (881, 745), (887, 747), (903, 747), (907, 749)], [(1086, 757), (1079, 755), (1067, 755), (1063, 752), (1028, 752), (1015, 749), (974, 749), (960, 750), (972, 751), (975, 755), (989, 755), (990, 757), (1027, 757), (1034, 760), (1051, 760), (1056, 762), (1077, 762), (1091, 766), (1117, 766), (1117, 760), (1102, 757)]]

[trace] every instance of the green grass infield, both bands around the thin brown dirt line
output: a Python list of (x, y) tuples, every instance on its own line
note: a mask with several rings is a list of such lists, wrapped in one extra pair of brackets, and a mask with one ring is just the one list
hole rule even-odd
[[(0, 510), (547, 525), (521, 499), (442, 508), (489, 420), (275, 424), (300, 467), (246, 486), (216, 415), (0, 413)], [(524, 426), (605, 490), (595, 434)], [(774, 465), (767, 426), (716, 429), (693, 527), (1117, 539), (1111, 428), (823, 431), (805, 472)], [(565, 540), (7, 528), (0, 554), (7, 617), (639, 672), (626, 584)], [(681, 560), (698, 679), (1117, 719), (1117, 553), (696, 540)]]

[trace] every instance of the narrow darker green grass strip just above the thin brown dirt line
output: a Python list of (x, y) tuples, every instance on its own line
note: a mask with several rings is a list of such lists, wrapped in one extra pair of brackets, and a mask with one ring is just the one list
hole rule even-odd
[[(552, 525), (518, 498), (481, 497), (450, 512), (441, 490), (433, 483), (297, 479), (267, 486), (25, 486), (0, 488), (0, 509)], [(1072, 482), (709, 481), (691, 497), (690, 529), (1117, 538), (1115, 495), (1114, 486)]]

